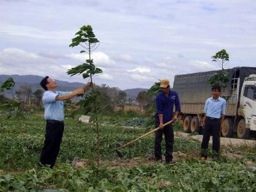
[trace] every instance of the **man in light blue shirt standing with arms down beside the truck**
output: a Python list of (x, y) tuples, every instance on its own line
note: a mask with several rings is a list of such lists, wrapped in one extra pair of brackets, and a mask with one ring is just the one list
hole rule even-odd
[(220, 97), (221, 87), (212, 86), (212, 97), (208, 98), (204, 106), (204, 134), (201, 145), (201, 159), (207, 159), (207, 149), (212, 135), (212, 158), (218, 158), (220, 154), (221, 124), (225, 119), (226, 100)]

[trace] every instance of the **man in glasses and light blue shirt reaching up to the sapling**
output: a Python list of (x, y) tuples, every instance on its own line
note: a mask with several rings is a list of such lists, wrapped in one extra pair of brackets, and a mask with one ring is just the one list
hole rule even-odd
[(64, 131), (64, 103), (63, 100), (71, 99), (77, 95), (84, 93), (87, 87), (92, 86), (91, 83), (77, 88), (72, 92), (56, 91), (57, 83), (49, 76), (44, 77), (41, 86), (45, 92), (42, 97), (44, 104), (44, 118), (46, 120), (46, 131), (44, 147), (40, 155), (40, 165), (49, 164), (53, 168), (56, 158), (60, 151), (60, 144)]

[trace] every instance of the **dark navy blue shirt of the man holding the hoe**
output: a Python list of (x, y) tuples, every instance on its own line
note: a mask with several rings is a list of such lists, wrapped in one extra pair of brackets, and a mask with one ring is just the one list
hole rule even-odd
[(163, 124), (172, 120), (173, 106), (175, 105), (175, 111), (180, 111), (180, 100), (177, 92), (169, 90), (169, 95), (164, 95), (160, 92), (156, 97), (157, 112), (155, 115), (156, 124), (159, 124), (158, 114), (163, 114)]

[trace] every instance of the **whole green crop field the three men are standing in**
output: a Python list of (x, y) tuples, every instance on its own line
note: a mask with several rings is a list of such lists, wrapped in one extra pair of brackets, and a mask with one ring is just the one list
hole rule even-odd
[[(28, 115), (17, 121), (0, 116), (0, 191), (256, 191), (255, 148), (223, 148), (219, 161), (202, 162), (198, 141), (175, 138), (177, 162), (166, 165), (148, 160), (154, 155), (153, 134), (122, 149), (125, 159), (119, 159), (113, 151), (116, 144), (131, 141), (146, 129), (124, 127), (122, 118), (117, 122), (106, 117), (100, 125), (97, 168), (95, 127), (67, 118), (60, 154), (51, 170), (37, 166), (44, 142), (42, 117)], [(228, 150), (241, 155), (228, 158)], [(83, 159), (82, 168), (72, 167), (74, 157)]]

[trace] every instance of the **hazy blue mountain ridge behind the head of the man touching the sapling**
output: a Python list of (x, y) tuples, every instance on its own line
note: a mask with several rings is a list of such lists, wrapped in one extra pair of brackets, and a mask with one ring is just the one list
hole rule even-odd
[[(19, 90), (20, 86), (31, 86), (32, 92), (35, 92), (36, 90), (40, 89), (43, 90), (43, 88), (40, 86), (40, 81), (44, 78), (41, 76), (19, 76), (19, 75), (0, 75), (0, 84), (4, 83), (8, 77), (12, 77), (15, 81), (15, 86), (12, 88), (12, 90), (6, 90), (4, 92), (5, 97), (12, 97), (12, 95), (15, 95), (15, 92)], [(83, 83), (69, 83), (67, 81), (59, 81), (56, 80), (58, 83), (58, 90), (67, 92), (72, 91), (75, 88), (78, 88), (83, 85)]]

